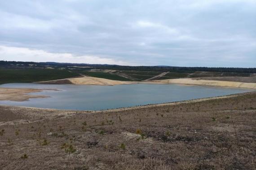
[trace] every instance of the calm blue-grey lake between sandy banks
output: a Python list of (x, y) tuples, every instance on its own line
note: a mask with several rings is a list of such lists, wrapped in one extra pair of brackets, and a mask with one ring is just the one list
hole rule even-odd
[(0, 87), (58, 89), (59, 91), (46, 90), (39, 93), (30, 93), (51, 96), (50, 98), (34, 98), (23, 102), (0, 101), (0, 104), (68, 110), (104, 110), (253, 91), (252, 89), (202, 85), (187, 86), (179, 84), (146, 83), (114, 86), (10, 83), (0, 85)]

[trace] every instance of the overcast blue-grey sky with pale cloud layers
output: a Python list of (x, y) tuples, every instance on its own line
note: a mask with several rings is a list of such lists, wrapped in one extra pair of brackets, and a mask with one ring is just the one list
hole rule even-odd
[(256, 0), (1, 0), (0, 60), (256, 67)]

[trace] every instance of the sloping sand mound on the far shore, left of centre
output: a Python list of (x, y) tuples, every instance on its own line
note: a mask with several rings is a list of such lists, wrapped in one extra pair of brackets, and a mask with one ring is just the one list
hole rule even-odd
[[(64, 83), (63, 83), (64, 82)], [(70, 83), (68, 83), (70, 82)], [(137, 83), (134, 81), (117, 81), (117, 80), (109, 80), (104, 78), (97, 77), (77, 77), (77, 78), (67, 78), (62, 80), (54, 80), (54, 81), (41, 81), (36, 83), (44, 83), (44, 84), (74, 84), (74, 85), (127, 85)]]

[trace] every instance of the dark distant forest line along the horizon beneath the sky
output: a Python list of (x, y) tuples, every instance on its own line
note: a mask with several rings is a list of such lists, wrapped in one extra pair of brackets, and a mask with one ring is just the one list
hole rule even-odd
[[(32, 65), (33, 64), (33, 65)], [(0, 67), (5, 68), (44, 68), (44, 67), (67, 68), (68, 66), (88, 66), (98, 69), (114, 70), (138, 70), (138, 71), (155, 71), (155, 72), (242, 72), (256, 73), (256, 68), (211, 68), (211, 67), (173, 67), (173, 66), (120, 66), (109, 64), (73, 64), (73, 63), (55, 63), (55, 62), (22, 62), (22, 61), (0, 61)]]

